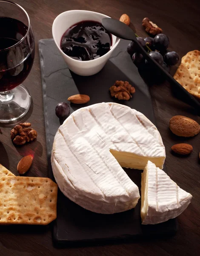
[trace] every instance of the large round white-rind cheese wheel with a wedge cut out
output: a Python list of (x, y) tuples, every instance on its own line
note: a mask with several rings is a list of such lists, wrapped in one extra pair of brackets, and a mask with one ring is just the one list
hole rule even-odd
[[(111, 214), (136, 206), (138, 187), (122, 167), (163, 168), (165, 147), (142, 113), (117, 103), (99, 103), (72, 113), (57, 131), (51, 165), (60, 190), (93, 212)], [(122, 166), (122, 167), (121, 167)]]

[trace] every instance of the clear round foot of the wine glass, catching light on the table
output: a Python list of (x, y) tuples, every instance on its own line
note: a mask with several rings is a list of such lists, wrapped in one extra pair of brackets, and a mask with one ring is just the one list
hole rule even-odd
[(31, 95), (25, 86), (18, 85), (11, 91), (10, 98), (4, 100), (0, 97), (0, 122), (17, 121), (29, 111)]

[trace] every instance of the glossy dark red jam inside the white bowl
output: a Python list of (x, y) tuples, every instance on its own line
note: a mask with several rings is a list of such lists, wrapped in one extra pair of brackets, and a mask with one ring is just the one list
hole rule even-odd
[(79, 61), (90, 61), (106, 54), (112, 45), (111, 34), (101, 23), (84, 20), (71, 26), (61, 38), (62, 51)]

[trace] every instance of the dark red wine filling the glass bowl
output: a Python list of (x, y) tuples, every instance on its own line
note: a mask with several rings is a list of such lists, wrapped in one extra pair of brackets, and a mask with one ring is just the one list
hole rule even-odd
[(12, 90), (29, 75), (34, 61), (34, 37), (23, 39), (27, 31), (20, 20), (0, 17), (0, 92)]

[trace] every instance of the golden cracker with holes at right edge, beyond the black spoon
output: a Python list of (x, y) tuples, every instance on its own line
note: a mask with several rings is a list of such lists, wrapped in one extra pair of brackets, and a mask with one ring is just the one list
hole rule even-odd
[(174, 79), (193, 96), (200, 98), (200, 51), (194, 50), (183, 56)]

